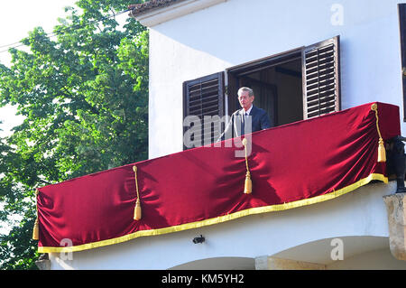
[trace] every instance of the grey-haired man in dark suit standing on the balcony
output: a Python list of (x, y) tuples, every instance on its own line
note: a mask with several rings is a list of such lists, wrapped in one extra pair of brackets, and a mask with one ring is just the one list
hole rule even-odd
[(217, 141), (249, 134), (270, 128), (271, 120), (265, 110), (254, 107), (254, 91), (243, 87), (238, 89), (241, 109), (236, 110)]

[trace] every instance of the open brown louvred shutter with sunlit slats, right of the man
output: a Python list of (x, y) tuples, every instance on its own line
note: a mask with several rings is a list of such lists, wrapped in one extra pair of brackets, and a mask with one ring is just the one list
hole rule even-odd
[(339, 36), (303, 48), (303, 119), (340, 110), (339, 50)]

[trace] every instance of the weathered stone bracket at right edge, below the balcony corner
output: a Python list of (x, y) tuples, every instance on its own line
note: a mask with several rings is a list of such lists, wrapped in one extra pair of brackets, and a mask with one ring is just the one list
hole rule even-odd
[(406, 193), (383, 196), (386, 204), (389, 224), (389, 246), (392, 255), (399, 260), (406, 260)]

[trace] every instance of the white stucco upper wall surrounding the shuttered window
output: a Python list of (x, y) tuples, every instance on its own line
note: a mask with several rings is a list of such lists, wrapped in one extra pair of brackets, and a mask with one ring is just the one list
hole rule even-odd
[(183, 81), (336, 35), (342, 108), (402, 107), (398, 2), (228, 0), (150, 27), (149, 157), (182, 150)]

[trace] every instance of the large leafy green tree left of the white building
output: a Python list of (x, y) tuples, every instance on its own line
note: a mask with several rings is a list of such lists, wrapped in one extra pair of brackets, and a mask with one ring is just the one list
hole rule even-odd
[(35, 268), (35, 188), (147, 158), (148, 32), (109, 16), (128, 4), (79, 0), (55, 36), (34, 28), (30, 51), (0, 65), (0, 105), (25, 117), (0, 142), (0, 220), (13, 227), (0, 235), (1, 269)]

